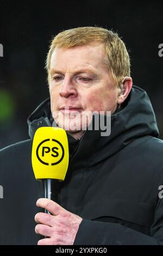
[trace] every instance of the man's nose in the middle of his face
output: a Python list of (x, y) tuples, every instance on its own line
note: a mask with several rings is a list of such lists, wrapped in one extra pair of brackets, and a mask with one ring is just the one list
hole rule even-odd
[(77, 88), (74, 86), (70, 77), (65, 77), (61, 85), (59, 94), (62, 97), (76, 97), (78, 95)]

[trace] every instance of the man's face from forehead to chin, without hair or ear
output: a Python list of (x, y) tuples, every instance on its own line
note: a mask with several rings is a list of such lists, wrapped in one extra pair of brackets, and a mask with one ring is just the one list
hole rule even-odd
[(94, 111), (114, 113), (118, 90), (104, 65), (102, 45), (55, 48), (49, 92), (53, 118), (69, 132), (87, 127)]

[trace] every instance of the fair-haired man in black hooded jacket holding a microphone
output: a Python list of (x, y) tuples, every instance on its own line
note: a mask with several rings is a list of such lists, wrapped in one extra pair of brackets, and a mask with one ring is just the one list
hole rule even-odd
[[(28, 118), (31, 139), (0, 151), (1, 244), (163, 244), (163, 143), (146, 92), (132, 87), (123, 41), (104, 28), (69, 29), (54, 37), (46, 67), (50, 99)], [(110, 135), (95, 129), (95, 111), (111, 112)], [(31, 149), (36, 129), (53, 121), (67, 132), (70, 163), (49, 200)]]

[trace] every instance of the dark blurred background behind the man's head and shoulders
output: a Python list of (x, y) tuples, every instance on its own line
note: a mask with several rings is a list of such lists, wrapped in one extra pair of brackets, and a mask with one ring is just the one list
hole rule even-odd
[(162, 7), (159, 1), (0, 0), (0, 148), (29, 138), (27, 117), (49, 96), (44, 66), (52, 36), (95, 25), (122, 36), (133, 82), (151, 99), (163, 139)]

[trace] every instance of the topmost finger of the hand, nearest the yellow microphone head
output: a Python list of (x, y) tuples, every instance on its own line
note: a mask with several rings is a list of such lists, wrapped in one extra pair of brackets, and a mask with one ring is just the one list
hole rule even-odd
[(39, 198), (36, 202), (38, 207), (44, 208), (47, 211), (51, 212), (51, 214), (57, 216), (61, 214), (63, 211), (66, 211), (59, 204), (47, 198)]

